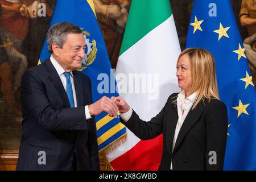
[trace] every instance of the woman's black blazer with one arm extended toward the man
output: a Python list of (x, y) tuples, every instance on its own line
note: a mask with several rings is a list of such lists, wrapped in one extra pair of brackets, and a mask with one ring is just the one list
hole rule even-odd
[[(185, 118), (174, 150), (172, 143), (177, 124), (177, 106), (173, 104), (177, 93), (172, 94), (163, 109), (149, 122), (142, 121), (133, 111), (126, 125), (138, 138), (152, 139), (163, 134), (163, 155), (159, 170), (222, 170), (224, 163), (228, 117), (226, 106), (219, 100), (200, 101)], [(210, 151), (217, 154), (217, 164)]]

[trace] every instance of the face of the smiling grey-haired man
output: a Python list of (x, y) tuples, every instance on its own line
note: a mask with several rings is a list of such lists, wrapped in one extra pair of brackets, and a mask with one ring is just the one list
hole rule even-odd
[(56, 60), (67, 72), (81, 68), (85, 46), (83, 34), (68, 34), (63, 48), (57, 48)]

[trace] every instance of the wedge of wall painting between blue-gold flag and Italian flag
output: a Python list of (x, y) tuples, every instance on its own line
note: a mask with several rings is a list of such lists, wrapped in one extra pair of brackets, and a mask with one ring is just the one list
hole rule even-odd
[(117, 64), (131, 0), (93, 0), (112, 68)]

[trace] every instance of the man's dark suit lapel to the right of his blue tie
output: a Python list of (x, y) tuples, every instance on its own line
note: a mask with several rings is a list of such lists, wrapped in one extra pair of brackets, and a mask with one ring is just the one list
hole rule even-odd
[(73, 77), (75, 82), (75, 88), (76, 88), (76, 101), (77, 106), (83, 106), (84, 102), (84, 95), (82, 92), (82, 80), (79, 74), (77, 74), (78, 71), (73, 71)]

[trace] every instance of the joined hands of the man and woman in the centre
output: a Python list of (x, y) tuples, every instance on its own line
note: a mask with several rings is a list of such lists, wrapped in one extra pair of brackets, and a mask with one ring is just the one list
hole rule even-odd
[(121, 114), (126, 113), (130, 110), (130, 106), (120, 96), (111, 98), (104, 96), (100, 100), (89, 105), (88, 109), (90, 115), (98, 115), (102, 113), (102, 111), (105, 111), (110, 117), (117, 117), (118, 111)]

